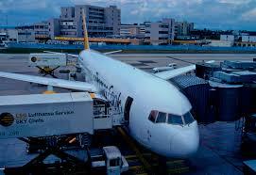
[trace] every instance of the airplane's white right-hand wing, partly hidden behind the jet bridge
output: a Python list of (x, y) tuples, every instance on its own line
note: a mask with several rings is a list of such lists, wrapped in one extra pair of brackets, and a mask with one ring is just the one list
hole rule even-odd
[[(207, 61), (206, 63), (213, 63), (214, 61)], [(166, 72), (158, 72), (158, 73), (154, 73), (155, 76), (162, 78), (164, 80), (169, 80), (173, 77), (176, 77), (180, 74), (184, 74), (186, 72), (191, 72), (196, 70), (196, 65), (190, 65), (190, 66), (186, 66), (183, 68), (179, 68), (179, 69), (175, 69), (175, 70), (170, 70), (170, 71), (166, 71)]]

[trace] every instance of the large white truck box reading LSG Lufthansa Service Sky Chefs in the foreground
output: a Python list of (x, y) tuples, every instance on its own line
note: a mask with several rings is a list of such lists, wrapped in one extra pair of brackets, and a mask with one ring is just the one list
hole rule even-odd
[(93, 105), (87, 92), (0, 96), (0, 139), (93, 135)]

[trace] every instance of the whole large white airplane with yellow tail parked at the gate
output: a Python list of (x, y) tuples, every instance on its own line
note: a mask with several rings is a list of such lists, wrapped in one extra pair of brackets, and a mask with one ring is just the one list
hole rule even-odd
[[(192, 105), (178, 88), (168, 82), (191, 72), (196, 65), (150, 74), (90, 49), (83, 14), (84, 50), (77, 57), (82, 70), (91, 78), (86, 82), (60, 80), (21, 73), (0, 72), (0, 77), (46, 86), (101, 92), (111, 88), (119, 95), (128, 120), (128, 132), (137, 142), (164, 157), (188, 158), (199, 146)], [(98, 82), (103, 82), (99, 84)]]

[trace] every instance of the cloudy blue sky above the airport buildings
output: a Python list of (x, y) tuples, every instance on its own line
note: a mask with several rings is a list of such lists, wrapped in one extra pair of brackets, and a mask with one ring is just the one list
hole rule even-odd
[(121, 23), (194, 22), (196, 28), (256, 30), (256, 0), (0, 0), (0, 26), (32, 24), (60, 16), (61, 6), (121, 8)]

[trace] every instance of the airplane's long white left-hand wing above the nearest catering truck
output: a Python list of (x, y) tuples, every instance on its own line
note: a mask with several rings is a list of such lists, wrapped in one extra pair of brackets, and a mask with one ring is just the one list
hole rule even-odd
[(85, 82), (79, 82), (79, 81), (69, 81), (69, 80), (63, 80), (63, 79), (26, 75), (26, 74), (20, 74), (20, 73), (10, 73), (10, 72), (0, 72), (0, 77), (9, 78), (13, 80), (26, 81), (30, 83), (37, 83), (42, 85), (49, 85), (52, 87), (70, 88), (70, 89), (85, 90), (90, 92), (97, 91), (97, 88), (95, 88), (94, 85), (85, 83)]

